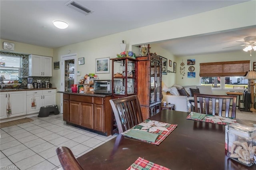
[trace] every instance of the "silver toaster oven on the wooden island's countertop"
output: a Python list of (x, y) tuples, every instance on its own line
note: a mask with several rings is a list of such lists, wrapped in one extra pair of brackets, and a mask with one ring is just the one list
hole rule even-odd
[(94, 80), (94, 93), (111, 94), (111, 80)]

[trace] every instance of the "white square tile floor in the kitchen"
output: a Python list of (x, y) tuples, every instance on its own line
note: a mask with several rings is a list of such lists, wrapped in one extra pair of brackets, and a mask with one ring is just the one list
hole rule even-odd
[(116, 137), (66, 125), (62, 114), (0, 128), (0, 168), (62, 170), (56, 148), (67, 146), (77, 157)]

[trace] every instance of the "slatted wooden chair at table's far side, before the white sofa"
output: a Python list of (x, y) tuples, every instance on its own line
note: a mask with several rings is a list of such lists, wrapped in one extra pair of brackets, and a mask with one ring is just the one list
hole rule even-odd
[(236, 97), (236, 95), (206, 95), (194, 93), (194, 101), (198, 101), (194, 103), (195, 111), (208, 115), (235, 118)]

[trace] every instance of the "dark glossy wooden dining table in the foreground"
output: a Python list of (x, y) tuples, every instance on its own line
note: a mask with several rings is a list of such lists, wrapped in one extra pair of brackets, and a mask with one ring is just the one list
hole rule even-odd
[[(141, 157), (171, 170), (256, 170), (228, 157), (225, 125), (186, 119), (188, 112), (164, 109), (148, 118), (177, 124), (160, 145), (119, 134), (77, 158), (88, 170), (126, 170)], [(253, 127), (256, 121), (236, 119)]]

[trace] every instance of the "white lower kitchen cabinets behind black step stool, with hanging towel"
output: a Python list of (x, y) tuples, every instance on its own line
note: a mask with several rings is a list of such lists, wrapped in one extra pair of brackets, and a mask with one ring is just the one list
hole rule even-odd
[[(31, 107), (33, 97), (36, 107)], [(27, 92), (27, 114), (38, 113), (42, 106), (56, 105), (56, 89), (33, 90)]]

